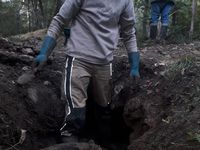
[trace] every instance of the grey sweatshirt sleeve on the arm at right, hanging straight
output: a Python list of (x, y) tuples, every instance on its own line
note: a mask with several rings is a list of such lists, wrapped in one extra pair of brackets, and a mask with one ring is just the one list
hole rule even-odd
[(119, 24), (121, 26), (121, 36), (123, 38), (127, 52), (137, 52), (138, 48), (135, 35), (135, 14), (132, 0), (127, 0), (124, 11), (120, 16)]

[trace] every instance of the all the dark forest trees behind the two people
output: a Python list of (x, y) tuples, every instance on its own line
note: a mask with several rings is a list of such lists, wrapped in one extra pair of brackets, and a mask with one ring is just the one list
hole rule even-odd
[[(0, 35), (11, 36), (48, 27), (60, 0), (0, 0)], [(134, 0), (138, 41), (149, 36), (150, 0)], [(195, 6), (195, 7), (194, 7)], [(176, 0), (168, 39), (200, 39), (200, 0)], [(193, 23), (192, 23), (193, 22)]]

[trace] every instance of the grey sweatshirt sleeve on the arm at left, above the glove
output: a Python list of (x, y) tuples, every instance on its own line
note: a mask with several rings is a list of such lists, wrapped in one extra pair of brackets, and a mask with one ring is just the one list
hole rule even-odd
[(57, 39), (65, 25), (78, 14), (82, 0), (65, 0), (56, 16), (53, 17), (47, 35)]

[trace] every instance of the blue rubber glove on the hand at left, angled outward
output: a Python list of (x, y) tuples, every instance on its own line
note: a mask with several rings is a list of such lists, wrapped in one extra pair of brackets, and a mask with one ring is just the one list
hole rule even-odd
[(46, 36), (44, 38), (42, 47), (40, 48), (40, 53), (35, 58), (34, 61), (36, 63), (42, 63), (47, 61), (47, 58), (49, 57), (55, 46), (56, 46), (56, 40), (53, 37)]

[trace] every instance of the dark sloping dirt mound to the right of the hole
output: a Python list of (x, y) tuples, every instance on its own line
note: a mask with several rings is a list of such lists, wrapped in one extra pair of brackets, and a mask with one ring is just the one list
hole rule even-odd
[(162, 84), (156, 87), (150, 86), (154, 92), (142, 95), (140, 102), (137, 101), (138, 97), (129, 102), (129, 112), (126, 114), (131, 112), (134, 117), (138, 117), (139, 107), (144, 110), (143, 117), (139, 118), (142, 118), (143, 124), (150, 128), (137, 139), (134, 139), (133, 133), (129, 149), (198, 150), (200, 148), (199, 69), (199, 66), (190, 66), (184, 74), (179, 72), (180, 74), (176, 76), (178, 78), (161, 79)]

